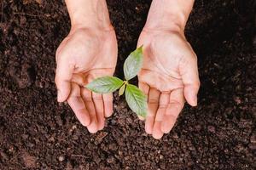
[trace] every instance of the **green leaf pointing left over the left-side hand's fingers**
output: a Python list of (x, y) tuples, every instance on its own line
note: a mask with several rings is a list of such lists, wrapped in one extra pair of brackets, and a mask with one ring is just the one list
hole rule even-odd
[(97, 94), (110, 94), (119, 89), (123, 85), (123, 81), (118, 77), (99, 77), (90, 82), (85, 88)]

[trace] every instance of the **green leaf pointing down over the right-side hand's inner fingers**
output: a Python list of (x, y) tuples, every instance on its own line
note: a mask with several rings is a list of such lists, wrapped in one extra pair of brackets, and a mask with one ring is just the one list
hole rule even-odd
[(147, 116), (147, 97), (139, 88), (132, 84), (127, 84), (125, 89), (125, 99), (131, 108), (139, 116)]

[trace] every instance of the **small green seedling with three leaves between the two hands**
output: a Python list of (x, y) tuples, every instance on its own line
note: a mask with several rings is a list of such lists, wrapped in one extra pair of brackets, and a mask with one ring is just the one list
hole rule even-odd
[(132, 78), (137, 76), (143, 65), (143, 46), (133, 51), (124, 64), (125, 80), (118, 77), (99, 77), (85, 87), (97, 94), (109, 94), (119, 89), (119, 95), (125, 94), (127, 104), (131, 111), (138, 116), (147, 115), (147, 97), (137, 86), (130, 84)]

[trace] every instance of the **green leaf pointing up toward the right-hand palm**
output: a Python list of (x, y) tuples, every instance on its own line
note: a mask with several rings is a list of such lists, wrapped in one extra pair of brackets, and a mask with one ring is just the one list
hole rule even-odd
[(133, 51), (127, 59), (125, 59), (124, 73), (125, 79), (131, 80), (131, 78), (136, 77), (138, 71), (141, 70), (143, 66), (143, 46), (137, 48)]

